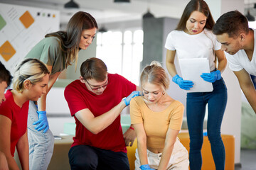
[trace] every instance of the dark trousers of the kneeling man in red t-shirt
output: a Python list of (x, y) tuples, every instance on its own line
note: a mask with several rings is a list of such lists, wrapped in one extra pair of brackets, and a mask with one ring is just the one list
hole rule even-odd
[(68, 152), (71, 170), (129, 170), (129, 161), (124, 152), (77, 145)]

